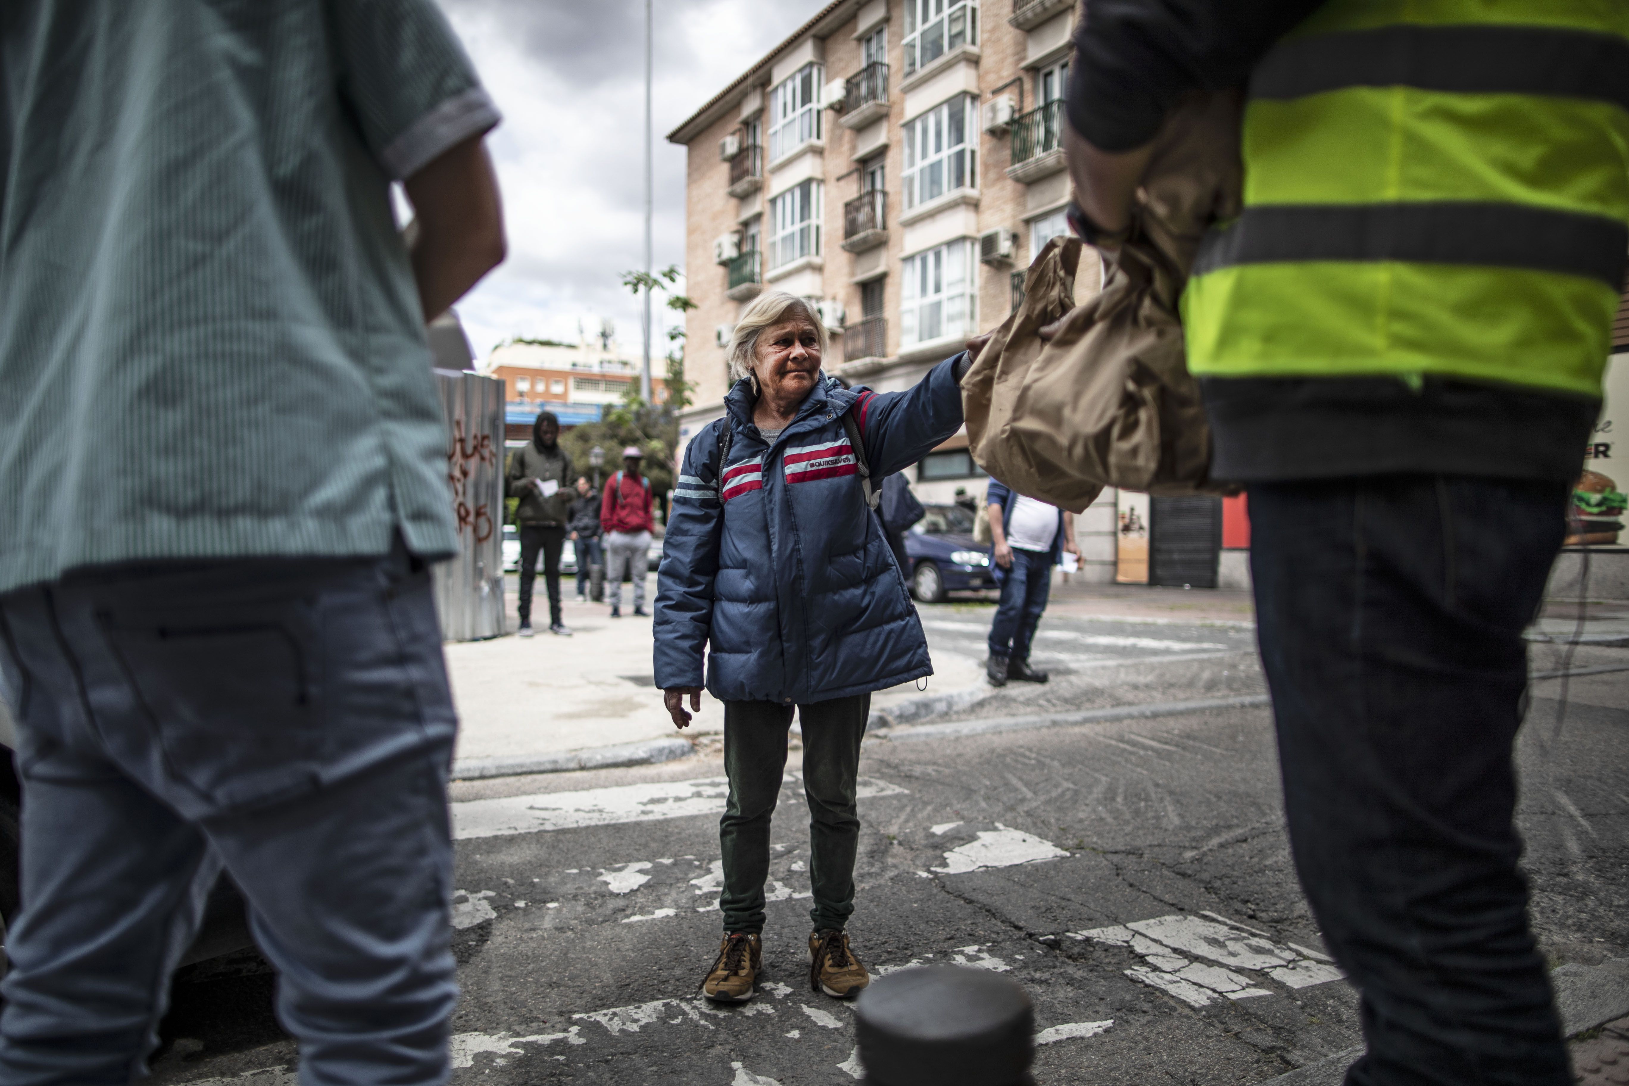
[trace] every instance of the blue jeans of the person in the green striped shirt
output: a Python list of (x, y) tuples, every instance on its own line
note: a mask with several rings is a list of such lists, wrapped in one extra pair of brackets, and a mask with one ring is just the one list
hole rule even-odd
[(300, 1081), (445, 1083), (456, 731), (428, 570), (108, 568), (0, 596), (23, 910), (0, 1081), (143, 1075), (222, 868)]

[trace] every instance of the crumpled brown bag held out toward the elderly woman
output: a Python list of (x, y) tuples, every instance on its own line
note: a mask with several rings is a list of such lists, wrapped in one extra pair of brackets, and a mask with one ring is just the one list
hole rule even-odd
[[(1104, 487), (1220, 493), (1178, 300), (1205, 228), (1238, 213), (1238, 96), (1204, 94), (1161, 129), (1132, 238), (1075, 306), (1083, 244), (1054, 238), (1025, 300), (961, 383), (973, 456), (1018, 493), (1078, 513)], [(1065, 316), (1067, 314), (1067, 316)], [(1051, 342), (1038, 331), (1064, 317)]]

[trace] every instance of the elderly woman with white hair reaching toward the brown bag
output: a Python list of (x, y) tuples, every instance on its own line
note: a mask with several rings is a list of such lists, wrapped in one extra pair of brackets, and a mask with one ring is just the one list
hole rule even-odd
[(933, 671), (867, 501), (873, 480), (961, 427), (969, 357), (906, 392), (872, 392), (828, 378), (826, 348), (801, 298), (771, 291), (748, 306), (730, 342), (725, 417), (686, 449), (656, 580), (656, 685), (673, 723), (689, 725), (684, 698), (700, 710), (704, 685), (723, 702), (723, 943), (702, 985), (717, 1001), (753, 998), (762, 964), (769, 819), (793, 708), (811, 816), (810, 983), (837, 998), (870, 983), (845, 935), (860, 739), (873, 690)]

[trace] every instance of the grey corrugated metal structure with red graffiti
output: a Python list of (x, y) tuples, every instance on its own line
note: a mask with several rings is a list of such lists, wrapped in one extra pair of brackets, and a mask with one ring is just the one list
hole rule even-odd
[(503, 637), (503, 383), (437, 370), (458, 554), (435, 565), (441, 637)]

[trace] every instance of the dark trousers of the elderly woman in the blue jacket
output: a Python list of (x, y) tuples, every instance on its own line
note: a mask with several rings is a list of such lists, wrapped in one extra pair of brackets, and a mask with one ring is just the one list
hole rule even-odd
[[(803, 729), (803, 795), (810, 804), (810, 889), (816, 931), (841, 931), (854, 913), (854, 855), (860, 843), (855, 778), (872, 695), (855, 694), (798, 705)], [(764, 930), (764, 882), (769, 879), (769, 817), (780, 798), (787, 767), (792, 707), (774, 702), (723, 703), (723, 769), (730, 799), (718, 819), (723, 848), (725, 931)], [(787, 852), (780, 860), (790, 861)], [(790, 873), (798, 892), (800, 876)], [(801, 897), (801, 892), (798, 892)], [(779, 899), (779, 894), (777, 894)]]

